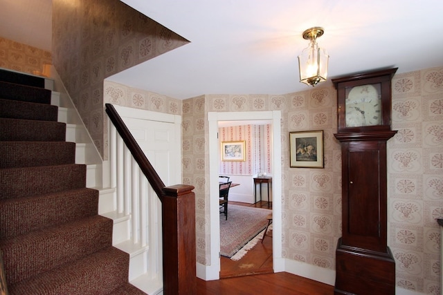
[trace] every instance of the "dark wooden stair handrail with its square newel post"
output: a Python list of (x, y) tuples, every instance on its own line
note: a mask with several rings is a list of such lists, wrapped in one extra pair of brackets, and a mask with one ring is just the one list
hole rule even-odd
[(192, 185), (165, 187), (112, 104), (106, 113), (162, 204), (163, 294), (197, 294), (195, 193)]

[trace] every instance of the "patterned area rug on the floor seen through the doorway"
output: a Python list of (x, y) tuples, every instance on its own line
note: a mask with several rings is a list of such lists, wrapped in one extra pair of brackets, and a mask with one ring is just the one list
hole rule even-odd
[(272, 211), (230, 204), (228, 220), (220, 214), (220, 255), (231, 257), (268, 224), (266, 216)]

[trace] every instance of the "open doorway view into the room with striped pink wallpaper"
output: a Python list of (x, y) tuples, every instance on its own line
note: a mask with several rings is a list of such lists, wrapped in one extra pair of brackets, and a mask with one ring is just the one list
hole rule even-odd
[[(232, 161), (223, 159), (223, 157), (219, 160), (220, 175), (226, 175), (235, 184), (235, 187), (229, 190), (228, 200), (228, 208), (234, 210), (234, 215), (228, 215), (230, 217), (228, 221), (224, 220), (223, 214), (220, 215), (220, 248), (224, 249), (220, 255), (220, 278), (273, 272), (272, 238), (270, 234), (266, 235), (264, 240), (260, 240), (259, 237), (262, 234), (259, 234), (258, 231), (255, 231), (257, 233), (255, 237), (249, 236), (251, 232), (247, 231), (245, 234), (251, 240), (240, 239), (238, 242), (246, 242), (246, 245), (232, 257), (224, 256), (226, 255), (224, 254), (226, 246), (233, 246), (231, 239), (239, 237), (235, 233), (256, 224), (253, 219), (251, 222), (244, 222), (245, 216), (248, 216), (246, 212), (251, 212), (253, 216), (262, 216), (260, 220), (266, 222), (266, 224), (268, 223), (266, 218), (272, 212), (270, 194), (268, 196), (268, 190), (266, 189), (269, 183), (264, 184), (266, 187), (263, 190), (261, 187), (259, 189), (258, 186), (254, 188), (253, 185), (253, 178), (260, 175), (272, 175), (271, 123), (271, 120), (218, 122), (218, 138), (221, 150), (224, 149), (225, 145), (243, 142), (243, 149), (247, 151), (243, 156), (243, 160)], [(264, 196), (262, 196), (262, 193)], [(244, 213), (239, 213), (239, 210), (244, 211)], [(253, 217), (251, 216), (251, 218)], [(257, 222), (260, 222), (260, 220), (257, 220)], [(222, 245), (225, 246), (222, 247)]]

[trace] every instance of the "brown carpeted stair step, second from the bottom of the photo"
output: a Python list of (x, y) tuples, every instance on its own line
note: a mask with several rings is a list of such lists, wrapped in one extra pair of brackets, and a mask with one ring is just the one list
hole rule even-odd
[(113, 225), (96, 215), (0, 240), (6, 280), (18, 283), (111, 247)]

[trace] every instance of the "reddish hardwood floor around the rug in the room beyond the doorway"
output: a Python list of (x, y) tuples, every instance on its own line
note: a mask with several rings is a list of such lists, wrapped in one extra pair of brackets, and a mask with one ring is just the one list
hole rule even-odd
[[(229, 202), (229, 204), (268, 209), (268, 202), (264, 201), (255, 204), (242, 202)], [(272, 209), (271, 205), (269, 209)], [(268, 231), (268, 234), (271, 235), (272, 231)], [(263, 243), (261, 241), (257, 242), (257, 245), (238, 261), (230, 260), (230, 258), (224, 256), (220, 258), (220, 278), (250, 274), (271, 274), (272, 272), (272, 238), (270, 237), (264, 238)]]

